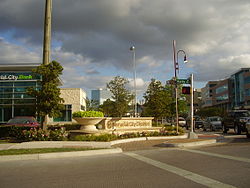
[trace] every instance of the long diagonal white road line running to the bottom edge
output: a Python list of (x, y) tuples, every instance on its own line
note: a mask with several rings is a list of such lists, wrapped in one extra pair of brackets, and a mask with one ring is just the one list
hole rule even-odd
[(190, 171), (187, 171), (187, 170), (184, 170), (181, 168), (177, 168), (175, 166), (168, 165), (168, 164), (162, 163), (160, 161), (156, 161), (156, 160), (153, 160), (153, 159), (150, 159), (150, 158), (147, 158), (147, 157), (135, 154), (135, 153), (124, 153), (124, 154), (127, 156), (130, 156), (132, 158), (135, 158), (139, 161), (143, 161), (147, 164), (158, 167), (160, 169), (177, 174), (179, 176), (182, 176), (186, 179), (189, 179), (191, 181), (194, 181), (196, 183), (202, 184), (202, 185), (207, 186), (207, 187), (211, 187), (211, 188), (236, 188), (232, 185), (225, 184), (225, 183), (219, 182), (217, 180), (214, 180), (214, 179), (211, 179), (211, 178), (208, 178), (205, 176), (201, 176), (199, 174), (195, 174), (193, 172), (190, 172)]

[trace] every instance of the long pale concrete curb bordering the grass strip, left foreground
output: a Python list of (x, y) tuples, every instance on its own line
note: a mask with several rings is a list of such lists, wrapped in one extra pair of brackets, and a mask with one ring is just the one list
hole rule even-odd
[(4, 155), (4, 156), (0, 156), (0, 162), (84, 157), (84, 156), (106, 155), (106, 154), (115, 154), (115, 153), (122, 153), (122, 149), (114, 148), (114, 149), (75, 151), (75, 152), (55, 152), (55, 153), (40, 153), (40, 154), (27, 154), (27, 155)]

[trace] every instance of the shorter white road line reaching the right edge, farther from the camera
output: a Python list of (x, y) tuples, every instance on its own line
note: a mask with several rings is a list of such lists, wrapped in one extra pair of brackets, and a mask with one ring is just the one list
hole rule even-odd
[(192, 152), (192, 153), (198, 153), (198, 154), (202, 154), (202, 155), (209, 155), (209, 156), (213, 156), (213, 157), (219, 157), (219, 158), (224, 158), (224, 159), (231, 159), (231, 160), (235, 160), (235, 161), (250, 163), (250, 159), (243, 158), (243, 157), (234, 157), (234, 156), (230, 156), (230, 155), (222, 155), (222, 154), (210, 153), (210, 152), (193, 150), (193, 149), (181, 149), (181, 150)]

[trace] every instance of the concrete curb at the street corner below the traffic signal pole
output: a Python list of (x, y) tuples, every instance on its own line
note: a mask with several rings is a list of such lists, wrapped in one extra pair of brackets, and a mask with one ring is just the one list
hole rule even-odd
[(165, 147), (194, 147), (194, 146), (204, 146), (209, 144), (217, 143), (216, 139), (196, 141), (196, 142), (187, 142), (187, 143), (164, 143)]

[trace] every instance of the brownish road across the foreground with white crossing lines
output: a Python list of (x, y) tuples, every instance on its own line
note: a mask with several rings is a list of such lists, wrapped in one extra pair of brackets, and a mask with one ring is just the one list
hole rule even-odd
[(250, 187), (250, 140), (122, 154), (0, 163), (1, 188)]

